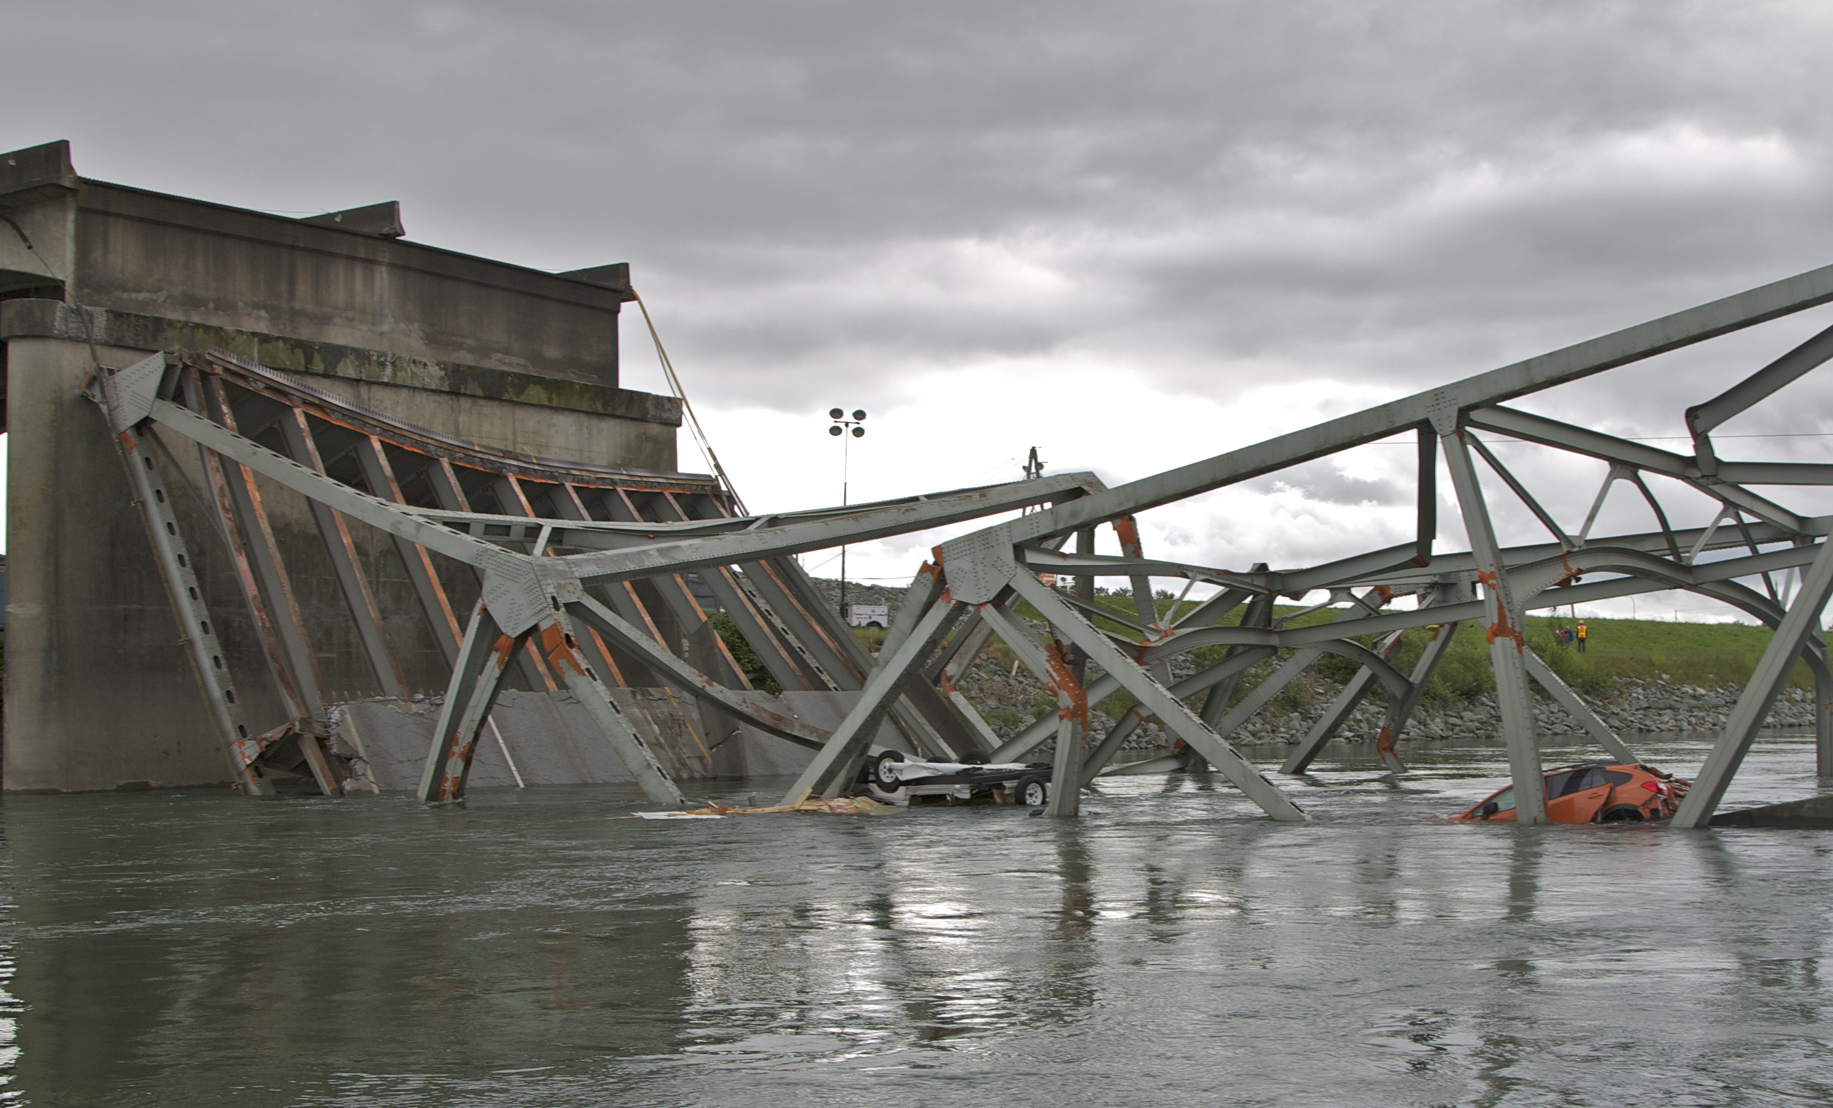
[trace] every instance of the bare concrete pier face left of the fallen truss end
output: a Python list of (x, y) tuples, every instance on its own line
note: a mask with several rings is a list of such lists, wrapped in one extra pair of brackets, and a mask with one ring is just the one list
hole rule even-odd
[[(227, 781), (121, 459), (93, 405), (75, 400), (88, 349), (20, 339), (7, 360), (5, 787)], [(225, 646), (247, 644), (224, 631)], [(238, 677), (262, 664), (246, 653), (231, 648)]]

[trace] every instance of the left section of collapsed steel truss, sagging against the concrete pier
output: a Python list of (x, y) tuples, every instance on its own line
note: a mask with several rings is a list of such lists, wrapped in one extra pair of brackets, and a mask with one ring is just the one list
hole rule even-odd
[[(665, 686), (728, 717), (819, 748), (807, 726), (759, 695), (711, 631), (695, 585), (733, 618), (786, 690), (854, 692), (873, 660), (819, 600), (794, 554), (840, 543), (1015, 512), (1100, 488), (1087, 473), (957, 490), (840, 510), (733, 517), (708, 477), (594, 468), (488, 451), (390, 420), (310, 383), (240, 360), (163, 354), (103, 371), (88, 396), (147, 504), (154, 550), (192, 648), (194, 668), (244, 789), (271, 791), (275, 774), (337, 792), (348, 767), (326, 756), (334, 697), (277, 537), (273, 486), (304, 497), (324, 545), (348, 626), (374, 686), (411, 690), (390, 616), (363, 565), (352, 521), (392, 537), (418, 616), (447, 677), (420, 792), (464, 794), (480, 730), (511, 670), (530, 688), (566, 688), (656, 800), (680, 803), (684, 767), (625, 719), (610, 690)], [(169, 453), (200, 453), (192, 482)], [(165, 459), (165, 466), (154, 462)], [(161, 471), (191, 484), (216, 530), (288, 719), (260, 734), (236, 706), (209, 613), (187, 576), (187, 554)], [(203, 486), (209, 492), (203, 492)], [(202, 631), (200, 631), (202, 627)], [(982, 743), (933, 686), (907, 690), (885, 715), (915, 748), (971, 754)], [(706, 770), (708, 767), (686, 767)]]

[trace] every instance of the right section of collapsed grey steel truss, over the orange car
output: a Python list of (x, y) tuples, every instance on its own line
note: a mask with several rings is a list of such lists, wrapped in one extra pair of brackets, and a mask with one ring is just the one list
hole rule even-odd
[[(1729, 730), (1707, 761), (1675, 824), (1694, 827), (1710, 818), (1756, 726), (1767, 715), (1798, 657), (1806, 657), (1815, 673), (1820, 767), (1822, 772), (1833, 772), (1833, 673), (1828, 670), (1826, 644), (1820, 637), (1820, 611), (1833, 594), (1833, 547), (1824, 541), (1829, 519), (1791, 510), (1747, 488), (1833, 484), (1833, 466), (1732, 462), (1719, 459), (1710, 442), (1710, 431), (1723, 420), (1833, 356), (1833, 328), (1718, 398), (1688, 407), (1685, 420), (1694, 440), (1690, 455), (1562, 424), (1505, 404), (1828, 301), (1833, 301), (1833, 268), (1778, 281), (1142, 481), (1091, 492), (946, 541), (937, 548), (935, 563), (927, 565), (926, 576), (920, 578), (927, 587), (913, 589), (893, 629), (895, 638), (904, 637), (904, 649), (887, 649), (880, 655), (878, 673), (865, 695), (785, 800), (801, 800), (843, 780), (856, 756), (863, 752), (863, 736), (869, 734), (874, 714), (882, 712), (874, 697), (889, 697), (906, 688), (913, 671), (922, 666), (924, 642), (935, 638), (949, 618), (970, 613), (1006, 638), (1019, 660), (1058, 695), (1056, 712), (1021, 728), (1015, 737), (993, 750), (993, 758), (1019, 758), (1045, 739), (1056, 737), (1056, 781), (1061, 785), (1070, 780), (1072, 774), (1067, 774), (1065, 767), (1080, 767), (1078, 780), (1085, 783), (1102, 772), (1114, 756), (1118, 739), (1138, 725), (1140, 714), (1149, 712), (1263, 811), (1274, 818), (1300, 820), (1301, 809), (1241, 758), (1228, 743), (1228, 734), (1318, 655), (1342, 653), (1360, 662), (1360, 673), (1325, 710), (1318, 726), (1300, 743), (1283, 769), (1301, 772), (1375, 682), (1386, 686), (1389, 704), (1378, 748), (1389, 765), (1400, 767), (1395, 741), (1417, 708), (1419, 693), (1430, 681), (1457, 622), (1476, 620), (1485, 629), (1496, 671), (1520, 818), (1527, 824), (1543, 822), (1545, 798), (1529, 699), (1531, 682), (1542, 684), (1611, 756), (1631, 758), (1631, 752), (1532, 655), (1521, 631), (1521, 616), (1531, 609), (1659, 589), (1694, 591), (1776, 627), (1756, 675), (1732, 712)], [(1419, 448), (1419, 526), (1413, 543), (1283, 572), (1268, 572), (1265, 567), (1248, 572), (1226, 571), (1157, 561), (1140, 554), (1135, 525), (1138, 512), (1397, 435), (1413, 435)], [(1608, 462), (1604, 488), (1598, 490), (1584, 525), (1562, 528), (1518, 475), (1496, 457), (1483, 440), (1485, 435), (1534, 442)], [(1454, 503), (1465, 534), (1472, 541), (1466, 552), (1433, 550), (1441, 455), (1452, 479)], [(1479, 479), (1479, 460), (1494, 471), (1509, 495), (1520, 499), (1549, 530), (1551, 543), (1503, 547), (1498, 541), (1488, 493)], [(1650, 477), (1666, 479), (1663, 492), (1686, 488), (1716, 501), (1719, 508), (1714, 523), (1703, 528), (1672, 526), (1664, 501)], [(1657, 532), (1591, 534), (1598, 504), (1617, 482), (1628, 484), (1648, 503), (1659, 523)], [(1122, 556), (1089, 554), (1089, 547), (1081, 541), (1078, 552), (1061, 550), (1069, 536), (1085, 536), (1098, 525), (1114, 526)], [(1774, 583), (1774, 574), (1785, 569), (1802, 572), (1802, 583), (1787, 602)], [(1158, 622), (1157, 613), (1146, 604), (1138, 605), (1138, 620), (1133, 622), (1124, 615), (1094, 609), (1085, 600), (1085, 587), (1080, 589), (1083, 598), (1078, 600), (1041, 585), (1039, 572), (1067, 574), (1083, 585), (1098, 576), (1122, 578), (1131, 583), (1136, 602), (1146, 594), (1142, 582), (1155, 576), (1213, 585), (1219, 593), (1171, 626)], [(1602, 574), (1602, 580), (1595, 574)], [(1580, 583), (1582, 576), (1593, 580)], [(1762, 582), (1763, 591), (1743, 583), (1747, 580)], [(1334, 624), (1285, 627), (1283, 620), (1270, 620), (1274, 598), (1298, 600), (1316, 591), (1327, 591), (1333, 604), (1349, 604)], [(1355, 591), (1362, 594), (1356, 596)], [(1415, 604), (1388, 607), (1400, 596), (1411, 596)], [(1043, 640), (1010, 618), (1008, 609), (1015, 598), (1030, 602), (1045, 618)], [(1239, 626), (1219, 626), (1224, 615), (1243, 605), (1246, 609)], [(1091, 611), (1127, 627), (1127, 633), (1102, 631), (1089, 620)], [(1435, 627), (1435, 635), (1413, 671), (1402, 675), (1393, 670), (1389, 659), (1391, 649), (1399, 646), (1399, 633), (1428, 626)], [(1367, 648), (1358, 642), (1366, 637), (1377, 637), (1377, 646)], [(1230, 651), (1210, 668), (1168, 684), (1169, 677), (1160, 664), (1202, 646), (1228, 646)], [(1228, 690), (1239, 675), (1278, 651), (1294, 653), (1235, 710), (1224, 712)], [(1083, 673), (1065, 664), (1072, 655), (1096, 660), (1103, 673), (1085, 682)], [(953, 679), (948, 668), (944, 675)], [(1129, 692), (1140, 706), (1127, 712), (1107, 736), (1100, 736), (1092, 750), (1085, 748), (1081, 734), (1089, 721), (1087, 704), (1118, 690)], [(1202, 708), (1193, 710), (1186, 699), (1199, 693), (1206, 697)], [(1072, 750), (1065, 750), (1065, 745)], [(1074, 811), (1074, 800), (1054, 800), (1052, 811), (1069, 814)]]

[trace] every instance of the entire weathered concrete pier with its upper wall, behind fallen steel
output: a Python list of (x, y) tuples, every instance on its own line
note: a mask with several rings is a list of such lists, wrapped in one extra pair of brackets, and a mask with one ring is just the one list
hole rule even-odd
[[(154, 350), (224, 349), (482, 446), (675, 470), (678, 402), (618, 387), (627, 270), (621, 284), (609, 268), (561, 277), (374, 229), (90, 182), (64, 143), (0, 154), (0, 215), (18, 226), (0, 224), (13, 622), (5, 789), (229, 781), (119, 455), (99, 411), (77, 396), (93, 369), (90, 339), (108, 367)], [(192, 495), (196, 451), (172, 449), (159, 468), (225, 662), (249, 717), (277, 725), (286, 712)], [(328, 692), (379, 695), (304, 501), (266, 493)], [(383, 536), (352, 530), (411, 690), (442, 692), (449, 670), (400, 558)], [(469, 571), (440, 574), (455, 604), (477, 594)]]

